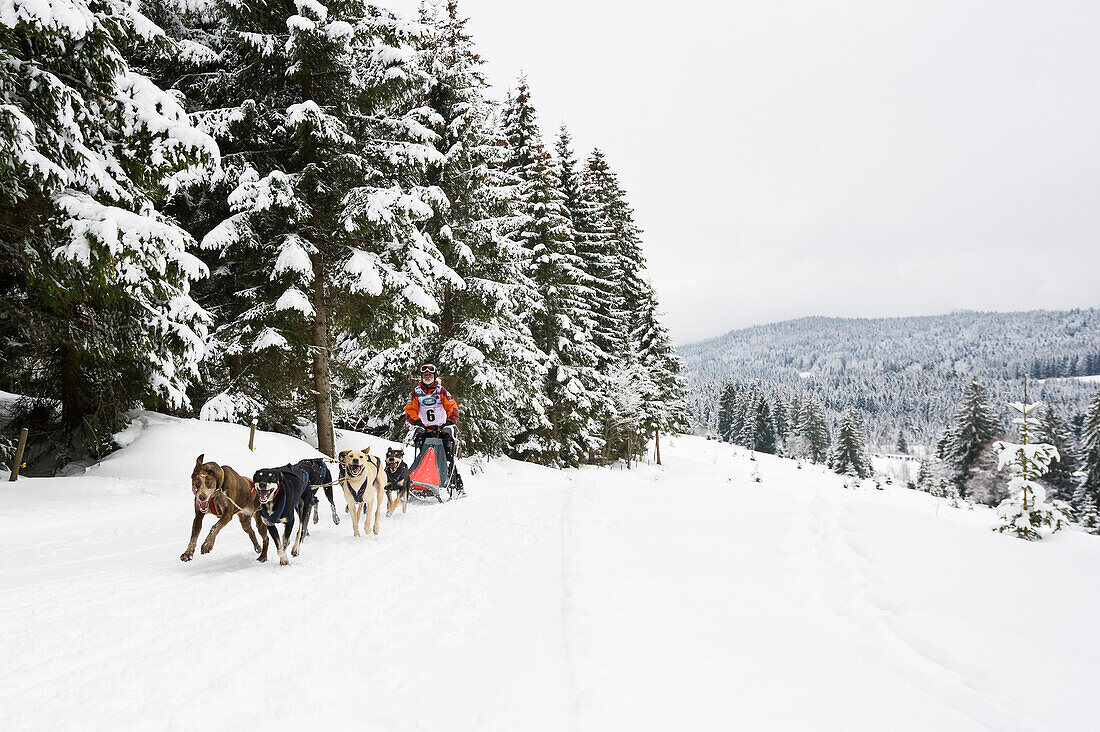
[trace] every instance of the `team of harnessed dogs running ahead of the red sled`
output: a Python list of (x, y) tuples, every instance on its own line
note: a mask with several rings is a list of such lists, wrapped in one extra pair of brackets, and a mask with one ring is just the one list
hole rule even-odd
[[(324, 496), (329, 500), (333, 524), (340, 523), (340, 516), (332, 500), (332, 485), (337, 483), (343, 489), (354, 536), (362, 536), (359, 531), (360, 516), (363, 517), (364, 533), (378, 533), (383, 501), (386, 501), (387, 516), (393, 515), (398, 505), (403, 513), (408, 506), (408, 466), (404, 460), (404, 451), (398, 449), (386, 450), (385, 466), (380, 458), (371, 456), (371, 448), (343, 450), (340, 452), (340, 477), (337, 481), (331, 480), (329, 469), (321, 458), (299, 460), (280, 468), (262, 468), (249, 480), (229, 466), (205, 462), (204, 457), (206, 456), (200, 455), (195, 460), (195, 469), (191, 471), (195, 521), (191, 522), (191, 540), (179, 555), (184, 561), (189, 561), (195, 556), (195, 544), (207, 514), (215, 516), (217, 523), (202, 542), (199, 549), (201, 554), (209, 554), (213, 549), (219, 532), (235, 516), (244, 533), (252, 539), (260, 561), (267, 561), (270, 537), (275, 542), (278, 562), (287, 565), (287, 548), (290, 547), (292, 535), (294, 546), (290, 547), (290, 555), (297, 557), (301, 550), (302, 537), (309, 536), (310, 514), (314, 523), (317, 523), (315, 507), (318, 506), (319, 488), (324, 489)], [(255, 522), (256, 531), (263, 537), (262, 545), (252, 531), (250, 520)], [(298, 526), (297, 533), (295, 523)]]

